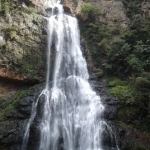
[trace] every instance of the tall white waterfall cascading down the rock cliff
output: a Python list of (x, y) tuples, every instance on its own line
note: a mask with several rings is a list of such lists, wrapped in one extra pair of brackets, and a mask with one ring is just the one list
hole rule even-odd
[(49, 16), (46, 86), (33, 103), (22, 150), (27, 149), (30, 126), (40, 111), (37, 105), (41, 97), (44, 100), (38, 150), (102, 150), (104, 106), (88, 82), (78, 22), (64, 14), (60, 1), (47, 0), (44, 5)]

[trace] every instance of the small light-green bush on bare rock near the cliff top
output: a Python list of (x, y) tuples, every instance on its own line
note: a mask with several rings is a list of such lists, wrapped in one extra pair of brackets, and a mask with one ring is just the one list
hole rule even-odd
[(97, 6), (92, 6), (90, 3), (83, 3), (80, 14), (83, 17), (87, 16), (91, 20), (100, 14), (100, 9)]

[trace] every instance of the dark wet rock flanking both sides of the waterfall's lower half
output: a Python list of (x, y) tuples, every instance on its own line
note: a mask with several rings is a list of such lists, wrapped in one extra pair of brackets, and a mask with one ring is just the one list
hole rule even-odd
[[(111, 108), (111, 105), (115, 105), (116, 99), (113, 97), (107, 97), (104, 92), (104, 84), (98, 84), (94, 81), (94, 76), (91, 77), (91, 83), (93, 87), (97, 90), (97, 92), (104, 97), (102, 98), (102, 102), (107, 106), (106, 112), (104, 113), (104, 119), (114, 119), (115, 113), (114, 109)], [(7, 110), (4, 113), (4, 120), (0, 122), (0, 149), (5, 150), (20, 150), (23, 142), (23, 136), (25, 133), (26, 125), (28, 119), (32, 113), (32, 104), (35, 102), (44, 88), (44, 84), (40, 84), (33, 90), (30, 90), (28, 93), (21, 95), (19, 98), (15, 98), (14, 108)], [(39, 141), (40, 141), (40, 130), (39, 130), (39, 122), (42, 116), (42, 105), (44, 98), (41, 97), (38, 103), (38, 111), (34, 122), (30, 128), (30, 136), (29, 143), (27, 145), (27, 150), (38, 150)], [(110, 105), (110, 106), (109, 106)], [(107, 113), (114, 113), (113, 117)], [(107, 124), (103, 125), (102, 136), (103, 139), (101, 141), (102, 146), (105, 150), (117, 150), (116, 146), (119, 142), (117, 139), (118, 136), (116, 134), (120, 133), (118, 126), (112, 128), (112, 124), (110, 121), (107, 121)], [(59, 150), (63, 150), (61, 147), (61, 139), (60, 139), (60, 148)]]

